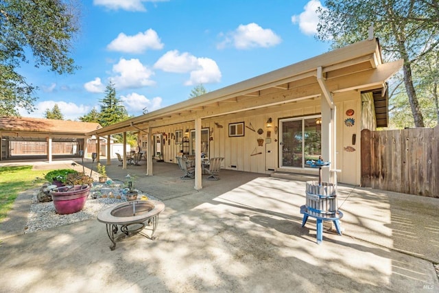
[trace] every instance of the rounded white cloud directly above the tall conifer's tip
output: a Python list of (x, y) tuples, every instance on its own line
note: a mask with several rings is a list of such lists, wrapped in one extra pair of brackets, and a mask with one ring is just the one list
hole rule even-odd
[(110, 80), (115, 83), (117, 89), (134, 89), (156, 84), (150, 80), (154, 72), (145, 67), (139, 59), (121, 58), (117, 64), (113, 65), (112, 71), (117, 75), (111, 77)]

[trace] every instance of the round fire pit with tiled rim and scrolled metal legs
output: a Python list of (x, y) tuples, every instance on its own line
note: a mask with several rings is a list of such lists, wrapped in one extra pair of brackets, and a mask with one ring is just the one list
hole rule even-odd
[[(165, 209), (165, 204), (157, 200), (133, 200), (123, 202), (116, 207), (110, 207), (97, 215), (97, 220), (106, 224), (107, 235), (112, 242), (110, 250), (115, 250), (116, 241), (132, 235), (140, 234), (148, 239), (154, 240), (154, 232), (158, 224), (158, 214)], [(123, 234), (116, 237), (120, 230)], [(145, 226), (151, 235), (143, 233)]]

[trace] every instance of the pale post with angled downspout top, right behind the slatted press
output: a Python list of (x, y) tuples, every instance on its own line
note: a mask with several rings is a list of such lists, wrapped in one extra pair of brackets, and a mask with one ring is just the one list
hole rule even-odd
[[(337, 161), (336, 161), (336, 107), (333, 102), (333, 96), (329, 91), (326, 81), (323, 77), (322, 67), (317, 67), (317, 82), (322, 89), (324, 100), (322, 99), (322, 157), (324, 161), (331, 162), (330, 169), (322, 168), (322, 180), (337, 184)], [(324, 146), (324, 148), (323, 148)]]

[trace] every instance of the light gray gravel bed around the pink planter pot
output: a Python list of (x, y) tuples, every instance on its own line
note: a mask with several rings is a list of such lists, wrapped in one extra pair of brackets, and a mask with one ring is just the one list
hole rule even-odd
[[(102, 194), (111, 191), (108, 188), (101, 190)], [(105, 190), (105, 192), (103, 190)], [(94, 187), (93, 191), (90, 192), (90, 195), (88, 196), (84, 209), (82, 209), (82, 211), (78, 211), (78, 213), (71, 213), (69, 215), (60, 215), (56, 213), (54, 202), (38, 202), (36, 194), (34, 194), (34, 196), (32, 196), (30, 211), (27, 215), (25, 234), (36, 231), (43, 231), (49, 228), (54, 228), (56, 226), (80, 222), (88, 220), (90, 218), (96, 218), (99, 211), (111, 207), (112, 205), (126, 202), (125, 196), (121, 196), (120, 199), (108, 197), (93, 199), (92, 194), (95, 191), (99, 191), (99, 187)], [(112, 194), (119, 194), (119, 189), (113, 189)], [(143, 194), (142, 191), (139, 191), (139, 195), (137, 196), (137, 198), (141, 199), (143, 195), (147, 196), (147, 198), (149, 199), (158, 200), (157, 198), (154, 198), (154, 196)]]

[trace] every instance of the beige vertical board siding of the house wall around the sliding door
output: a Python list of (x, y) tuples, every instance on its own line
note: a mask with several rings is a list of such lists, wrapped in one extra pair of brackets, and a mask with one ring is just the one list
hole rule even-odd
[[(360, 183), (360, 132), (361, 132), (361, 99), (358, 91), (337, 93), (334, 95), (337, 108), (337, 169), (340, 183), (359, 185)], [(309, 115), (320, 115), (320, 98), (305, 99), (297, 103), (285, 104), (267, 113), (265, 110), (252, 110), (225, 117), (204, 119), (202, 128), (209, 129), (209, 135), (213, 138), (209, 141), (209, 156), (224, 156), (222, 167), (225, 169), (236, 169), (244, 172), (268, 173), (273, 171), (298, 172), (305, 174), (316, 174), (315, 169), (309, 168), (280, 168), (278, 141), (281, 131), (278, 128), (278, 119), (289, 117), (303, 117)], [(353, 109), (354, 115), (348, 117), (346, 110)], [(266, 128), (266, 121), (272, 118), (272, 128)], [(346, 126), (344, 119), (355, 119), (354, 126)], [(228, 124), (244, 122), (244, 137), (228, 137)], [(222, 126), (222, 127), (221, 127)], [(255, 131), (250, 130), (250, 126)], [(263, 134), (258, 134), (261, 128)], [(180, 145), (171, 139), (171, 133), (176, 130), (194, 129), (194, 124), (176, 124), (173, 126), (153, 128), (152, 134), (167, 134), (163, 145), (163, 159), (165, 162), (176, 163), (175, 157), (180, 154)], [(213, 131), (212, 131), (213, 130)], [(267, 131), (271, 131), (271, 141), (267, 141)], [(169, 136), (168, 136), (169, 134)], [(355, 145), (352, 144), (352, 136), (356, 134)], [(257, 139), (263, 139), (263, 146), (259, 146)], [(348, 152), (344, 148), (348, 146), (355, 148), (354, 152)], [(261, 154), (259, 154), (261, 153)]]

